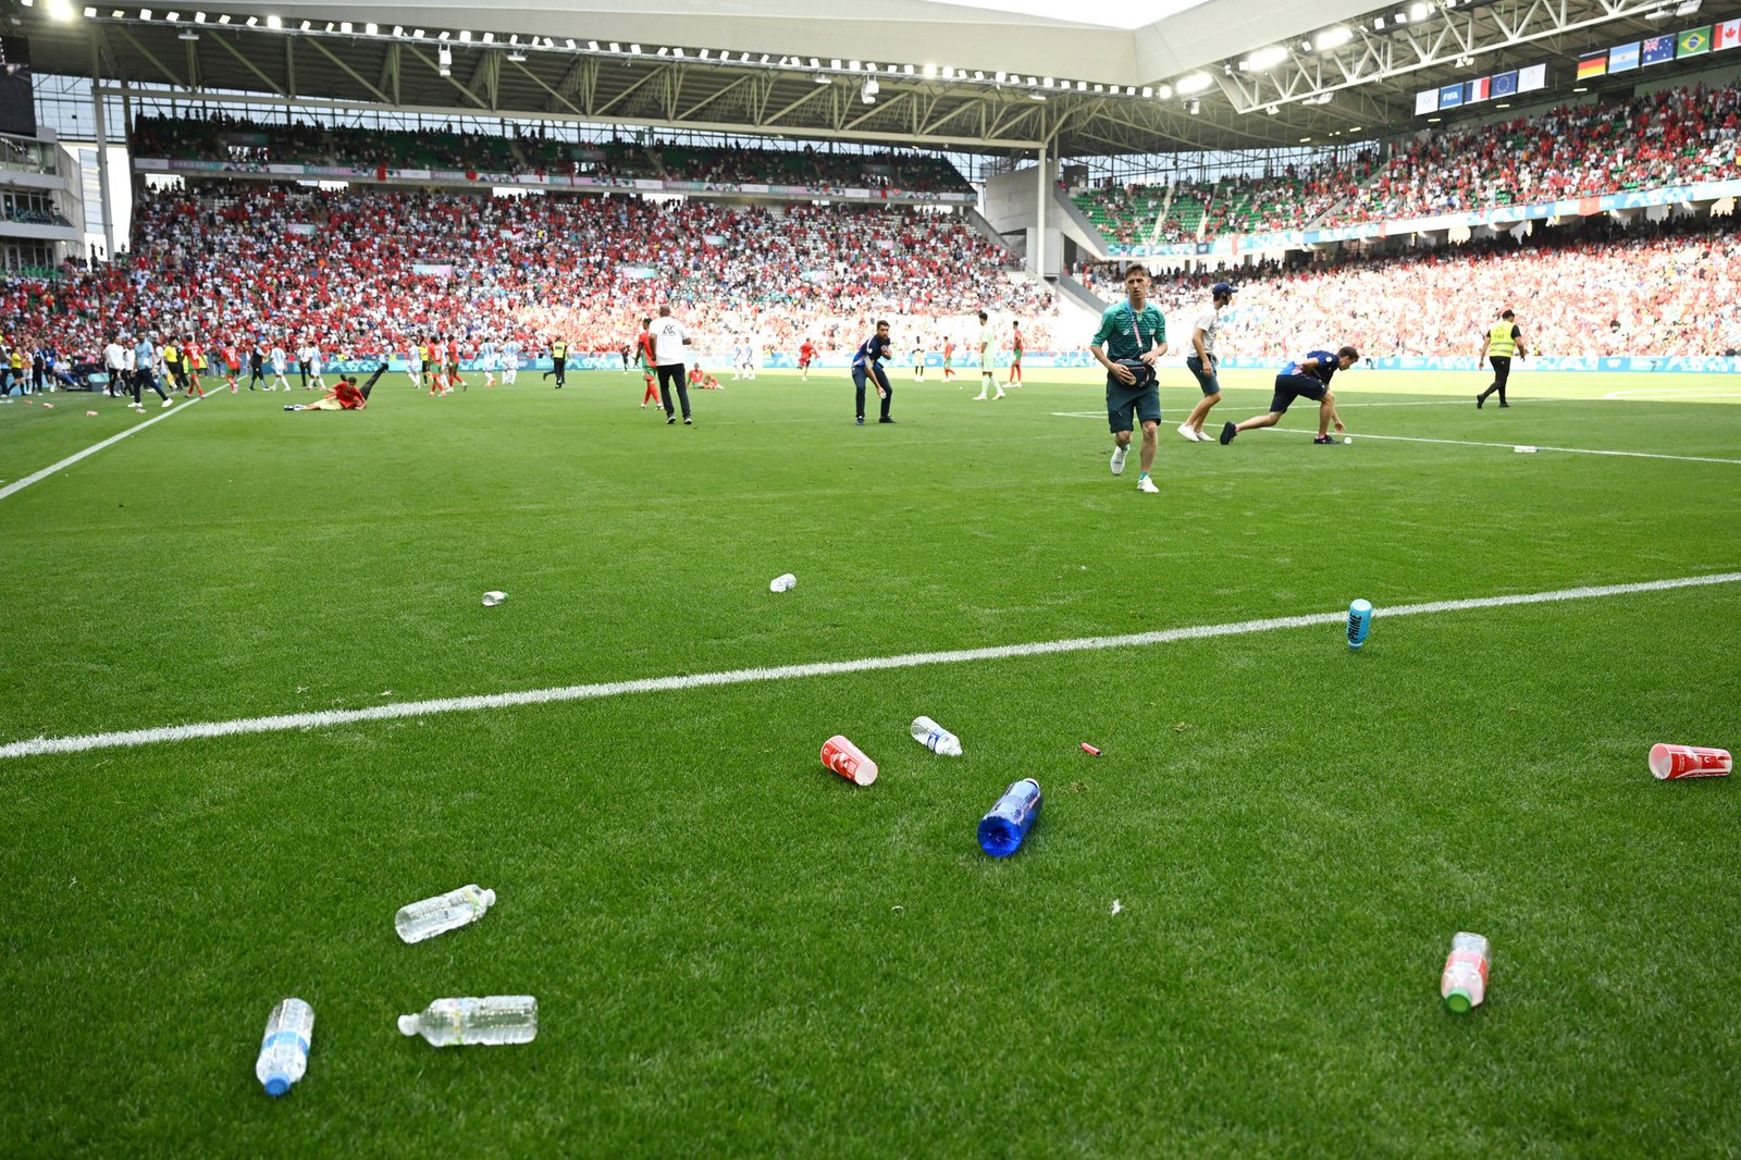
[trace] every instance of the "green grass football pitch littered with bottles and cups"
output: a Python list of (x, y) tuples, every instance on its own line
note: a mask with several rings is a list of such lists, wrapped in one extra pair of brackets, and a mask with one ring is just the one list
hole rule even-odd
[[(3, 759), (0, 1151), (1741, 1146), (1741, 784), (1645, 770), (1652, 742), (1741, 744), (1741, 583), (1384, 617), (1734, 570), (1741, 387), (1518, 374), (1476, 413), (1475, 376), (1349, 373), (1339, 448), (1297, 434), (1309, 408), (1187, 444), (1196, 392), (1168, 387), (1144, 496), (1086, 374), (996, 404), (895, 374), (900, 423), (862, 430), (837, 376), (696, 392), (693, 428), (639, 411), (639, 378), (569, 381), (430, 401), (392, 376), (360, 415), (214, 397), (0, 500), (0, 744), (1353, 597), (1372, 639)], [(1212, 427), (1267, 394), (1229, 374)], [(0, 408), (0, 479), (157, 416), (54, 401)], [(966, 756), (916, 745), (918, 714)], [(876, 786), (822, 768), (836, 732)], [(1043, 815), (987, 859), (975, 824), (1018, 777)], [(470, 881), (500, 892), (482, 921), (397, 941), (399, 906)], [(1494, 946), (1462, 1019), (1436, 989), (1457, 930)], [(538, 996), (534, 1043), (393, 1026), (498, 993)], [(252, 1062), (286, 995), (317, 1024), (275, 1103)]]

